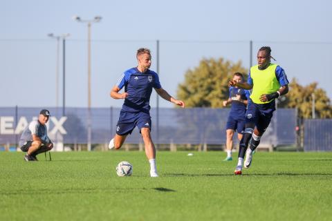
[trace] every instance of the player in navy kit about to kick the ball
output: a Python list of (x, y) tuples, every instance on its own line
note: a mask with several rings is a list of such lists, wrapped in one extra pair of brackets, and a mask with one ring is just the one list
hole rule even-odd
[[(120, 112), (116, 135), (109, 142), (109, 148), (120, 148), (136, 126), (142, 134), (145, 144), (145, 154), (150, 163), (150, 176), (158, 177), (156, 169), (156, 148), (151, 140), (151, 117), (149, 114), (150, 96), (152, 88), (160, 97), (178, 106), (185, 107), (185, 103), (174, 99), (164, 90), (159, 82), (157, 73), (149, 70), (151, 66), (151, 52), (147, 48), (140, 48), (136, 53), (138, 66), (125, 71), (120, 80), (111, 90), (111, 97), (124, 99)], [(124, 93), (119, 91), (124, 87)]]

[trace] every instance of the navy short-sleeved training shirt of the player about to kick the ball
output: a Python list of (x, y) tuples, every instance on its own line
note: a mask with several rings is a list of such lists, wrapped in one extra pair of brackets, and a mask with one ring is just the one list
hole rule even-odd
[(126, 70), (116, 86), (120, 90), (124, 86), (124, 92), (128, 93), (128, 97), (124, 99), (122, 110), (131, 113), (149, 113), (152, 88), (161, 88), (157, 73), (149, 69), (145, 73), (140, 73), (137, 68)]

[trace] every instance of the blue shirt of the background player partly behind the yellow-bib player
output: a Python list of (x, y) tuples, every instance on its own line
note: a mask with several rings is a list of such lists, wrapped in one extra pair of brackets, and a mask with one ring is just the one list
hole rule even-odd
[(230, 99), (232, 99), (232, 107), (230, 108), (230, 116), (235, 119), (243, 118), (246, 116), (246, 104), (239, 102), (238, 96), (241, 100), (248, 100), (250, 97), (249, 90), (244, 90), (242, 88), (230, 87)]

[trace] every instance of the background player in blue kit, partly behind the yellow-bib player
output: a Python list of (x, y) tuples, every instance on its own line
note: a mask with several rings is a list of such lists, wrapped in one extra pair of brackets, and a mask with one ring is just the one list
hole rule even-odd
[[(243, 75), (241, 73), (234, 73), (233, 81), (242, 82)], [(223, 106), (232, 104), (228, 120), (226, 124), (226, 151), (227, 157), (224, 161), (232, 160), (232, 148), (233, 148), (233, 135), (234, 131), (237, 131), (237, 137), (239, 140), (242, 139), (245, 126), (245, 115), (248, 104), (248, 98), (250, 93), (248, 90), (242, 88), (230, 86), (230, 96), (228, 100), (223, 101)]]

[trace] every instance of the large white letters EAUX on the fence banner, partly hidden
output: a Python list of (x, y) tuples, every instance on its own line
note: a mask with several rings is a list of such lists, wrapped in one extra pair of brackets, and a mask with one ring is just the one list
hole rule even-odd
[[(33, 120), (37, 119), (37, 117), (33, 117)], [(62, 135), (67, 134), (67, 131), (64, 129), (63, 124), (66, 122), (67, 117), (60, 117), (58, 120), (57, 117), (50, 117), (50, 120), (47, 122), (46, 126), (48, 128), (48, 134), (56, 134), (57, 132)], [(27, 117), (20, 117), (17, 125), (14, 126), (15, 118), (12, 116), (3, 116), (0, 117), (0, 134), (3, 135), (14, 135), (20, 134), (24, 131), (29, 125)], [(50, 123), (51, 122), (51, 123)], [(52, 128), (50, 128), (50, 126)]]

